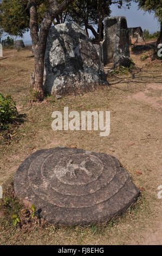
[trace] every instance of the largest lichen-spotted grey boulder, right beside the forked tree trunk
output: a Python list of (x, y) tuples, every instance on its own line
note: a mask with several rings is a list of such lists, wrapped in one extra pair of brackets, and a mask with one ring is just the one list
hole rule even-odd
[(75, 23), (50, 28), (44, 66), (44, 91), (53, 95), (79, 94), (107, 84), (95, 47)]

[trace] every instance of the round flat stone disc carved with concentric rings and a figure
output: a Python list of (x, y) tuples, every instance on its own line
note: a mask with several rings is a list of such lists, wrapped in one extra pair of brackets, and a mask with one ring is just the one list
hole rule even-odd
[(18, 168), (16, 195), (56, 225), (111, 220), (137, 200), (139, 189), (119, 161), (83, 149), (38, 150)]

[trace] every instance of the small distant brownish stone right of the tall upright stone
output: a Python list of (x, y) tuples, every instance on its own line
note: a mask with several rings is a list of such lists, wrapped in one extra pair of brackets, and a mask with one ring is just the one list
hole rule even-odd
[(129, 32), (129, 44), (138, 44), (145, 42), (145, 37), (141, 27), (128, 28)]

